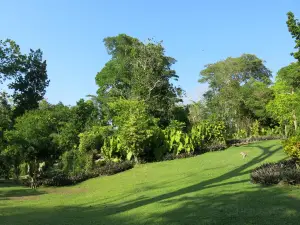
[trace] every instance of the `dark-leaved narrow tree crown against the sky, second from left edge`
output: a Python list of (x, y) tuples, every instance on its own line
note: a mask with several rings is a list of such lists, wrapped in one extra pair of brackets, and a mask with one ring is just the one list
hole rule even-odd
[(14, 90), (12, 95), (15, 117), (22, 115), (26, 110), (38, 108), (49, 85), (47, 63), (43, 61), (41, 50), (30, 50), (24, 62), (23, 73), (15, 78), (8, 87)]

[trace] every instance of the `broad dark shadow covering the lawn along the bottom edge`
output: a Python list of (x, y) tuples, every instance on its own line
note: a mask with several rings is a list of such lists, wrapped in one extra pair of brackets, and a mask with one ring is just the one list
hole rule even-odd
[[(126, 203), (124, 203), (126, 204)], [(175, 207), (174, 207), (175, 206)], [(280, 188), (248, 189), (201, 197), (165, 199), (142, 211), (124, 205), (7, 207), (1, 224), (299, 224), (300, 200)], [(129, 210), (129, 209), (128, 209)]]

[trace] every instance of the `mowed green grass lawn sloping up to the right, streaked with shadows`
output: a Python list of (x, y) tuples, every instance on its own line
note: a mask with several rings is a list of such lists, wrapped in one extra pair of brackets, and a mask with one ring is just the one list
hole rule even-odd
[[(248, 152), (244, 160), (241, 151)], [(265, 141), (73, 187), (2, 184), (0, 224), (300, 224), (299, 187), (250, 183), (253, 168), (285, 157), (280, 141)]]

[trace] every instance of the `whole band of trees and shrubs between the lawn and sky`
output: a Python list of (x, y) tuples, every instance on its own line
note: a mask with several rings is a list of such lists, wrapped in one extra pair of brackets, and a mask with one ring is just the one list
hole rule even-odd
[(209, 90), (189, 105), (174, 85), (176, 60), (162, 42), (105, 38), (111, 59), (96, 75), (97, 95), (66, 106), (44, 99), (49, 80), (42, 52), (22, 54), (15, 42), (1, 41), (0, 79), (13, 94), (0, 95), (0, 176), (27, 176), (33, 187), (38, 180), (73, 184), (131, 162), (223, 149), (237, 139), (297, 137), (300, 24), (288, 13), (287, 25), (298, 61), (282, 68), (274, 84), (262, 59), (229, 57), (205, 66), (199, 82)]

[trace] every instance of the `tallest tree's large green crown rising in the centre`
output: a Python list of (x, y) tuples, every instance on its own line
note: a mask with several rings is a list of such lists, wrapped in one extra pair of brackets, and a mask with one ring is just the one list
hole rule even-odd
[[(172, 110), (181, 101), (182, 90), (171, 80), (178, 76), (171, 66), (175, 60), (165, 56), (161, 43), (142, 43), (125, 34), (104, 39), (112, 56), (97, 74), (98, 96), (102, 110), (108, 115), (108, 103), (122, 97), (144, 101), (149, 113), (162, 125), (172, 117)], [(108, 119), (109, 120), (109, 116)]]

